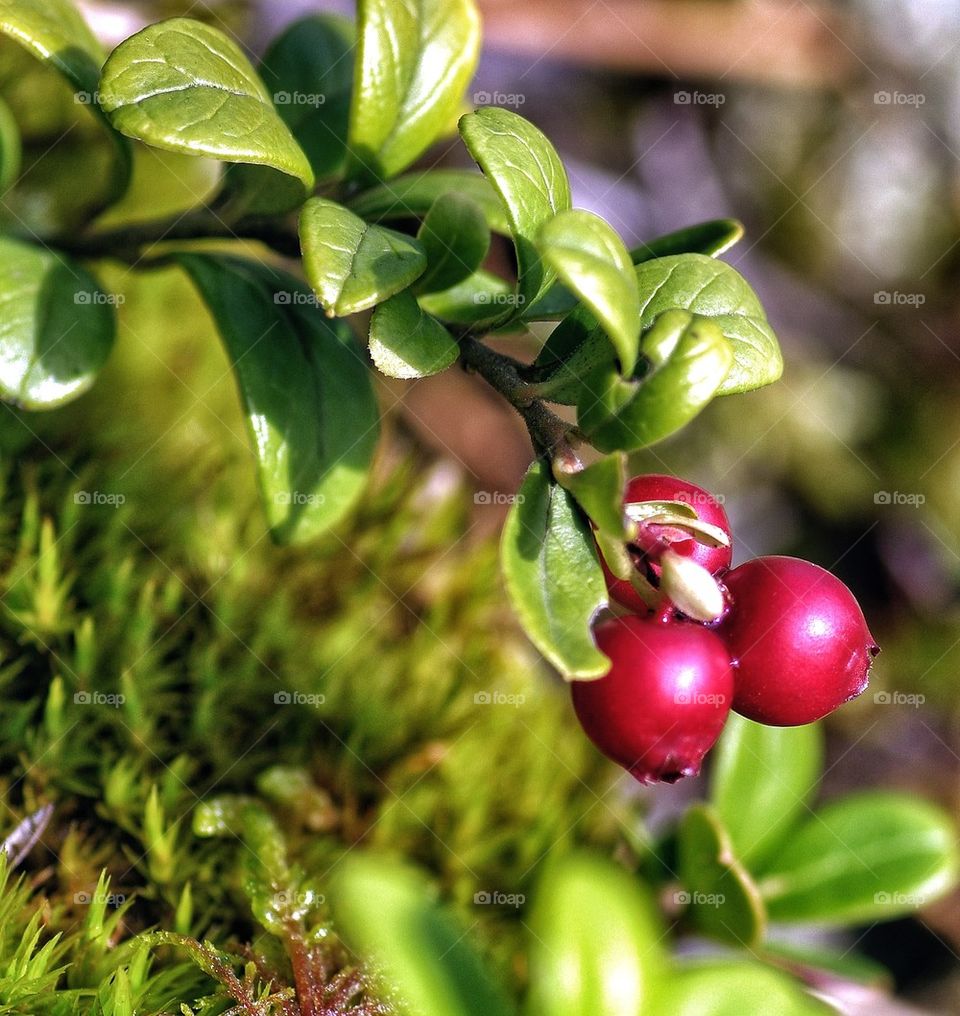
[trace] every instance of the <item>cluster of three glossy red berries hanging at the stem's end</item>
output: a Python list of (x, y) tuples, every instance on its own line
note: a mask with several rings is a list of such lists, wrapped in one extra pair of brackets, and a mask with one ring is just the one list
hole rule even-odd
[[(696, 529), (652, 515), (639, 523), (629, 547), (634, 581), (615, 577), (604, 565), (611, 595), (634, 613), (596, 626), (596, 644), (612, 661), (606, 676), (573, 683), (577, 716), (601, 752), (642, 782), (674, 782), (700, 771), (731, 708), (762, 723), (793, 726), (863, 691), (878, 647), (838, 578), (786, 557), (755, 558), (728, 570), (726, 512), (694, 484), (636, 477), (625, 505), (647, 502), (690, 505), (726, 542), (701, 542)], [(651, 599), (666, 553), (714, 577), (723, 595), (718, 617), (693, 620), (662, 589), (659, 606)]]

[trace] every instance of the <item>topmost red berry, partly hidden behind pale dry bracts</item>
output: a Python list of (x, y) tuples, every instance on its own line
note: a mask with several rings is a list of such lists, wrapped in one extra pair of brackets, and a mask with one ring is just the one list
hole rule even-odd
[[(723, 506), (708, 491), (686, 480), (660, 473), (634, 477), (627, 484), (624, 504), (633, 501), (683, 501), (696, 510), (702, 521), (717, 526), (730, 537), (730, 523)], [(670, 541), (671, 550), (692, 557), (697, 564), (703, 565), (714, 575), (730, 566), (732, 539), (726, 547), (708, 547), (683, 529), (665, 525), (651, 525), (649, 528), (654, 535), (666, 536)], [(602, 560), (600, 563), (603, 566), (606, 588), (614, 599), (638, 614), (645, 614), (647, 606), (630, 582), (617, 578)]]

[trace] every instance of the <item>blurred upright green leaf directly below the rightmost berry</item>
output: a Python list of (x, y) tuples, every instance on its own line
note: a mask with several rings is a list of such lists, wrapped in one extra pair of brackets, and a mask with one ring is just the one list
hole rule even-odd
[(767, 726), (730, 713), (713, 758), (710, 800), (738, 858), (759, 871), (810, 809), (823, 733), (817, 723)]

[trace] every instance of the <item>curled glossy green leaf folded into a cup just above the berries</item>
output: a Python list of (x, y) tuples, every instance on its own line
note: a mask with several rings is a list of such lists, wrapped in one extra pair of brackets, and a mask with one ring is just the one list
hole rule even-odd
[(685, 427), (713, 398), (733, 354), (717, 325), (685, 311), (666, 311), (643, 336), (650, 365), (640, 381), (625, 381), (613, 366), (581, 387), (577, 422), (600, 451), (632, 451)]

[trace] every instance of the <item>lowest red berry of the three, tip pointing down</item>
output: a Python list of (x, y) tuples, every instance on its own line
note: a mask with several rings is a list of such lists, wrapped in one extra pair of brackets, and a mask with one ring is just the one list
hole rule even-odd
[(696, 776), (732, 701), (722, 640), (700, 625), (633, 616), (601, 622), (594, 636), (613, 665), (597, 681), (573, 682), (587, 737), (643, 783)]

